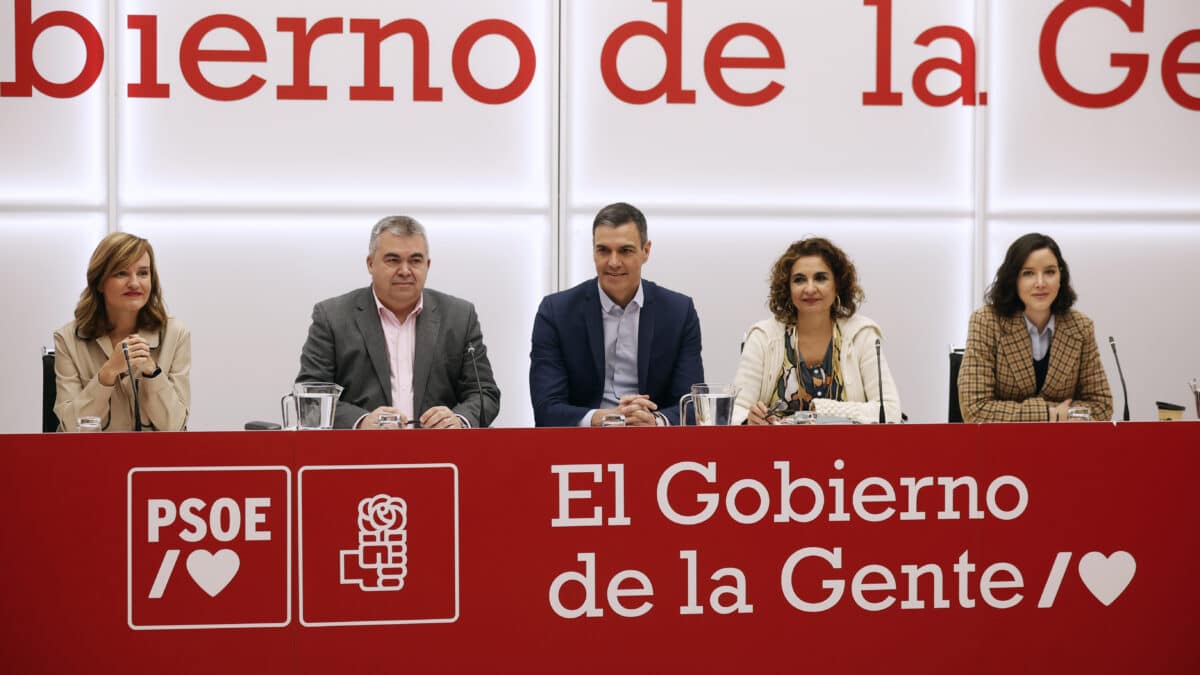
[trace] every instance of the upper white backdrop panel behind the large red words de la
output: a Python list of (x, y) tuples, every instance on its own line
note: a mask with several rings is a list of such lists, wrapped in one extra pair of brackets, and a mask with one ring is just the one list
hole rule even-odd
[[(930, 0), (905, 4), (894, 25), (893, 86), (902, 107), (864, 107), (875, 88), (875, 11), (862, 2), (685, 2), (683, 84), (696, 104), (644, 106), (614, 97), (600, 76), (605, 40), (617, 26), (647, 20), (666, 26), (661, 2), (646, 0), (565, 4), (569, 193), (574, 205), (617, 198), (652, 203), (744, 203), (758, 207), (918, 207), (967, 209), (971, 204), (972, 110), (929, 108), (911, 94), (917, 64), (958, 58), (938, 41), (914, 47), (935, 24), (970, 26), (973, 4)], [(737, 107), (719, 100), (704, 78), (704, 50), (727, 24), (758, 23), (782, 47), (786, 68), (727, 70), (730, 84), (755, 91), (773, 79), (785, 86), (772, 102)], [(728, 55), (762, 56), (749, 37)], [(618, 70), (636, 89), (661, 77), (664, 50), (631, 38)], [(936, 76), (948, 91), (956, 78)]]

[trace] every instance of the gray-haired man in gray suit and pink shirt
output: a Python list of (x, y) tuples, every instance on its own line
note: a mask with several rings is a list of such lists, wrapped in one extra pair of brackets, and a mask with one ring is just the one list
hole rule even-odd
[(475, 306), (425, 287), (425, 227), (389, 216), (371, 229), (371, 286), (317, 303), (296, 382), (344, 388), (334, 426), (374, 429), (400, 413), (425, 429), (487, 426), (500, 408)]

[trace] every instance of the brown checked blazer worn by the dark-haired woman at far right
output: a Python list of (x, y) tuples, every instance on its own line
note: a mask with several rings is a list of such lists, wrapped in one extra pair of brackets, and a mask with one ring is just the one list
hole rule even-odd
[(959, 369), (964, 422), (1045, 422), (1049, 406), (1067, 399), (1091, 408), (1092, 419), (1112, 419), (1092, 319), (1075, 310), (1055, 316), (1046, 380), (1040, 393), (1037, 387), (1025, 318), (997, 316), (990, 305), (976, 310)]

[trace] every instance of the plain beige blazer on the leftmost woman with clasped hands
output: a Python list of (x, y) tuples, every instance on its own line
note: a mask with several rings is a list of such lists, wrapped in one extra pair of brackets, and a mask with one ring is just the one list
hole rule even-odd
[[(187, 426), (191, 407), (192, 335), (178, 318), (167, 319), (161, 333), (139, 331), (150, 345), (150, 356), (162, 372), (157, 377), (138, 376), (138, 404), (142, 429), (180, 431)], [(104, 431), (133, 430), (133, 387), (122, 376), (112, 387), (100, 383), (96, 375), (113, 353), (107, 335), (84, 340), (71, 323), (54, 331), (54, 375), (58, 398), (54, 414), (60, 431), (74, 431), (80, 417), (98, 417)]]

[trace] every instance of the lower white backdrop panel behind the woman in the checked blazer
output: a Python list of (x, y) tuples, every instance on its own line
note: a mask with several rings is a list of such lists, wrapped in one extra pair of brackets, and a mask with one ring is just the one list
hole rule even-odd
[[(1109, 335), (1117, 340), (1133, 419), (1158, 419), (1154, 401), (1188, 404), (1187, 381), (1200, 377), (1200, 222), (996, 221), (988, 235), (991, 274), (1008, 245), (1026, 232), (1054, 237), (1070, 265), (1070, 285), (1079, 293), (1075, 307), (1096, 323), (1117, 418), (1124, 400)], [(1194, 416), (1189, 406), (1184, 417)]]

